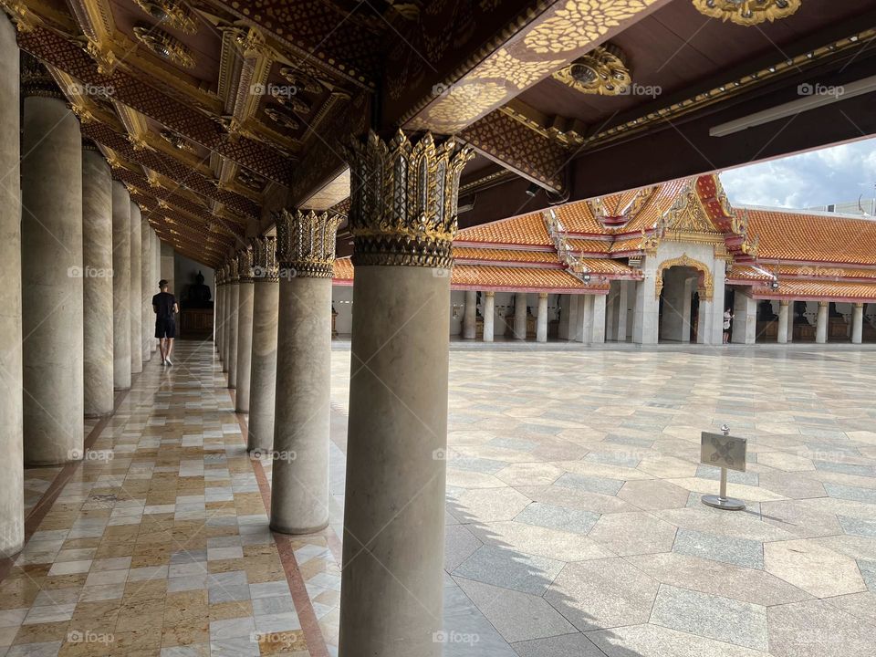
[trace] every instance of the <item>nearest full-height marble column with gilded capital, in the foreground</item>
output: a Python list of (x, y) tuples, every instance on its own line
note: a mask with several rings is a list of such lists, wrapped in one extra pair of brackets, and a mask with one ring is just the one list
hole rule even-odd
[[(450, 277), (436, 273), (452, 266), (459, 175), (470, 154), (452, 140), (434, 146), (429, 133), (415, 146), (401, 133), (389, 143), (372, 134), (352, 150), (356, 278), (340, 657), (443, 652), (435, 636), (445, 577)], [(394, 179), (397, 161), (424, 174)], [(397, 184), (406, 195), (375, 193)]]

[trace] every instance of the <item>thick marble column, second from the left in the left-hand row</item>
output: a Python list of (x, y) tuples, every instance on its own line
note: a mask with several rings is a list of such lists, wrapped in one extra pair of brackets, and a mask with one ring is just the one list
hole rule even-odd
[(85, 437), (82, 135), (45, 68), (22, 65), (24, 458), (63, 464), (82, 458)]

